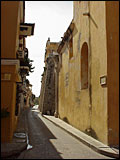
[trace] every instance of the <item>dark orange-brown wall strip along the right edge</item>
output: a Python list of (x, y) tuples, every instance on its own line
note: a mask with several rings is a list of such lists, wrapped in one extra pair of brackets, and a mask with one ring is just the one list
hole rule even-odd
[(119, 144), (119, 2), (106, 1), (108, 143)]

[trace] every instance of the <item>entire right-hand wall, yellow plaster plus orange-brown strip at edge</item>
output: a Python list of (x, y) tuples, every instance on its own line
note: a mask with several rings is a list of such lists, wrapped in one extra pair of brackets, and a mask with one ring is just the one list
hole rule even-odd
[[(108, 8), (106, 4), (109, 5)], [(117, 7), (118, 5), (115, 5), (114, 2), (74, 2), (73, 17), (78, 32), (73, 37), (73, 58), (69, 60), (66, 47), (66, 51), (62, 54), (62, 68), (59, 73), (60, 118), (83, 132), (90, 127), (92, 129), (91, 136), (104, 144), (111, 143), (112, 145), (119, 142), (119, 25), (118, 19), (115, 18), (118, 16)], [(90, 16), (87, 15), (88, 12)], [(113, 21), (111, 21), (111, 17), (113, 17)], [(112, 41), (110, 41), (111, 34)], [(89, 87), (87, 89), (81, 89), (81, 48), (84, 42), (88, 45)], [(102, 76), (107, 77), (107, 85), (101, 85), (100, 78)], [(114, 98), (112, 98), (113, 93), (116, 95)], [(113, 133), (109, 133), (109, 128), (113, 129)]]

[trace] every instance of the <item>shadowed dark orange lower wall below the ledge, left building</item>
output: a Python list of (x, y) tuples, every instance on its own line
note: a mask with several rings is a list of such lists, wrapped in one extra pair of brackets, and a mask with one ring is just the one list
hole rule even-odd
[[(15, 106), (16, 106), (16, 79), (15, 70), (16, 66), (5, 66), (8, 67), (10, 71), (6, 73), (4, 66), (1, 67), (1, 109), (8, 108), (10, 112), (9, 117), (1, 118), (1, 141), (11, 142), (13, 132), (16, 129), (17, 118), (15, 116)], [(4, 80), (4, 74), (11, 74), (11, 78)]]

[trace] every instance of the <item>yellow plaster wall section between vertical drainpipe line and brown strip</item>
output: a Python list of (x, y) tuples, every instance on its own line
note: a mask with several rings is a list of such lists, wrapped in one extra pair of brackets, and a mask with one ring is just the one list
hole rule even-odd
[(107, 144), (107, 86), (100, 84), (100, 77), (107, 75), (105, 19), (105, 1), (90, 1), (91, 127), (98, 139)]

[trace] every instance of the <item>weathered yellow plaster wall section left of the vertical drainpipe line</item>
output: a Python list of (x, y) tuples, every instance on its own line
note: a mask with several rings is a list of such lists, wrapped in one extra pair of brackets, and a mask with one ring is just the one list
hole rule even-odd
[(74, 127), (85, 131), (90, 127), (89, 89), (81, 90), (80, 50), (84, 42), (88, 44), (89, 21), (88, 17), (82, 16), (82, 12), (88, 10), (88, 4), (81, 3), (83, 9), (79, 10), (78, 3), (80, 2), (74, 2), (79, 14), (74, 11), (74, 22), (78, 32), (73, 37), (73, 57), (69, 60), (67, 49), (62, 54), (62, 68), (59, 73), (59, 115)]

